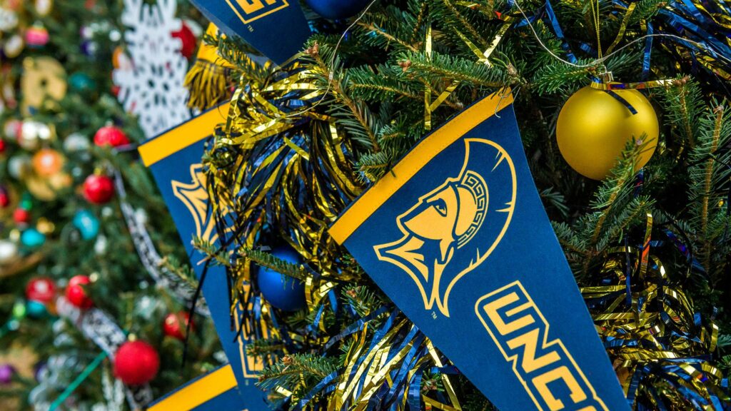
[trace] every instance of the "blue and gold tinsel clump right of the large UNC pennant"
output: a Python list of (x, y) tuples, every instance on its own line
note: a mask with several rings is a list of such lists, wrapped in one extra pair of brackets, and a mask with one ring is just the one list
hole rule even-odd
[(718, 327), (701, 325), (689, 298), (668, 284), (662, 262), (650, 252), (652, 222), (648, 214), (641, 246), (608, 254), (597, 281), (616, 284), (581, 287), (581, 293), (633, 405), (685, 410), (692, 400), (697, 409), (721, 410), (730, 401), (721, 389), (723, 376), (700, 359), (715, 349)]

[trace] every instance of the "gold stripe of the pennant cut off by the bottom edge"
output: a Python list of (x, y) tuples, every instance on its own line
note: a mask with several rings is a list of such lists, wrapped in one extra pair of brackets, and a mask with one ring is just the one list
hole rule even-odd
[(227, 365), (167, 396), (148, 411), (189, 411), (235, 387), (236, 377)]

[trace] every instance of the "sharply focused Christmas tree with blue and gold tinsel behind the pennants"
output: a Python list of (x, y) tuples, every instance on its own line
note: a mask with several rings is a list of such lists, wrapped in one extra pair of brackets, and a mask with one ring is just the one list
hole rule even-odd
[(509, 88), (630, 406), (729, 406), (724, 3), (306, 3), (315, 34), (295, 62), (209, 36), (226, 69), (189, 75), (199, 108), (227, 98), (208, 85), (237, 86), (204, 159), (224, 246), (196, 246), (234, 303), (269, 314), (236, 312), (276, 330), (248, 347), (273, 407), (493, 409), (327, 230), (431, 129)]

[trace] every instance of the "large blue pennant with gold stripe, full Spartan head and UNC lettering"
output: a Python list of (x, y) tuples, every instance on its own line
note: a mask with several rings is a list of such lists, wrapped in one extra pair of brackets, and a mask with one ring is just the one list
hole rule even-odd
[(629, 410), (531, 178), (512, 95), (425, 137), (330, 235), (500, 410)]

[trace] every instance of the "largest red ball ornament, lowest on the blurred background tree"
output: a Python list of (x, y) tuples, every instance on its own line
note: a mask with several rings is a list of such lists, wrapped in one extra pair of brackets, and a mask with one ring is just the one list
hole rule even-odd
[(129, 341), (122, 344), (114, 356), (114, 375), (126, 385), (150, 382), (160, 369), (160, 357), (150, 344)]

